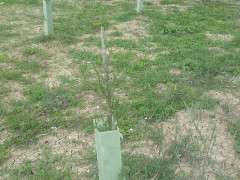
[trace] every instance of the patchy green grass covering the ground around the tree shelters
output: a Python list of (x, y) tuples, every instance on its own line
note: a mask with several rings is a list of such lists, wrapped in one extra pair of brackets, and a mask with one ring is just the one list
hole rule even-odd
[[(215, 111), (221, 105), (226, 114), (231, 114), (230, 104), (221, 104), (206, 92), (232, 86), (231, 82), (219, 80), (219, 77), (240, 75), (240, 52), (236, 51), (240, 37), (239, 5), (215, 1), (163, 0), (156, 3), (149, 0), (144, 2), (142, 14), (137, 15), (135, 2), (59, 1), (53, 2), (54, 35), (47, 37), (32, 33), (32, 28), (41, 27), (38, 22), (41, 17), (35, 13), (42, 6), (41, 1), (2, 2), (0, 11), (4, 16), (9, 14), (8, 8), (19, 6), (28, 9), (21, 13), (21, 18), (23, 21), (27, 18), (32, 24), (23, 26), (13, 21), (8, 25), (5, 20), (0, 23), (0, 83), (3, 87), (0, 88), (0, 118), (3, 129), (11, 133), (0, 145), (1, 165), (11, 157), (9, 149), (37, 143), (38, 135), (48, 134), (52, 127), (93, 132), (92, 119), (103, 115), (96, 114), (95, 107), (106, 108), (96, 99), (86, 100), (89, 92), (100, 92), (93, 67), (99, 69), (102, 63), (100, 38), (96, 36), (100, 34), (101, 26), (107, 32), (111, 71), (117, 76), (115, 84), (119, 93), (114, 93), (113, 113), (126, 142), (141, 141), (146, 132), (147, 138), (160, 147), (165, 136), (163, 130), (152, 129), (150, 132), (150, 127), (142, 127), (141, 123), (160, 123), (191, 107)], [(186, 9), (181, 11), (172, 7), (176, 5), (184, 5)], [(163, 11), (164, 7), (169, 11)], [(12, 19), (17, 21), (19, 17), (15, 13)], [(136, 27), (134, 32), (128, 31), (135, 39), (125, 39), (128, 27), (124, 27), (124, 22), (132, 20), (142, 22), (141, 27)], [(139, 29), (140, 32), (144, 29), (148, 36), (141, 36)], [(230, 34), (233, 40), (214, 40), (208, 38), (206, 32)], [(61, 55), (50, 51), (51, 48), (41, 48), (50, 43), (65, 53), (64, 61), (58, 61), (62, 59)], [(52, 68), (53, 63), (60, 68)], [(174, 70), (179, 73), (172, 73)], [(71, 72), (72, 76), (67, 76), (69, 73), (65, 71)], [(56, 73), (55, 81), (59, 86), (47, 84), (52, 72)], [(13, 82), (22, 87), (19, 93), (24, 99), (9, 99), (13, 92), (9, 84)], [(166, 88), (158, 90), (159, 84)], [(99, 99), (103, 99), (102, 95)], [(82, 117), (78, 112), (84, 108), (92, 108), (94, 112)], [(229, 131), (235, 135), (237, 152), (240, 144), (238, 121), (229, 125)], [(129, 132), (131, 128), (133, 133)], [(178, 155), (186, 154), (189, 155), (187, 159), (194, 160), (194, 155), (199, 152), (199, 142), (191, 136), (175, 139), (168, 150), (171, 158), (126, 153), (123, 155), (123, 175), (129, 179), (153, 179), (155, 176), (155, 179), (184, 179), (184, 175), (173, 170), (179, 162)], [(93, 169), (86, 176), (97, 179), (96, 156), (89, 156), (88, 165), (93, 165)], [(19, 175), (26, 179), (71, 179), (74, 176), (70, 169), (58, 170), (47, 159), (26, 161), (10, 174), (12, 179), (18, 179)]]

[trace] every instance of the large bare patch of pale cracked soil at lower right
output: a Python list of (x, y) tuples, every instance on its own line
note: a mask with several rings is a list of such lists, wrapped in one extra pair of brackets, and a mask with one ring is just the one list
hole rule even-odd
[[(202, 158), (201, 161), (196, 162), (200, 167), (189, 166), (192, 160), (189, 159), (191, 151), (188, 151), (188, 146), (191, 143), (185, 144), (185, 150), (179, 154), (180, 163), (176, 167), (176, 172), (191, 172), (195, 174), (194, 177), (198, 177), (202, 171), (205, 171), (208, 179), (216, 179), (216, 175), (220, 175), (219, 172), (222, 172), (225, 176), (236, 178), (240, 162), (237, 160), (234, 150), (233, 137), (226, 131), (227, 124), (222, 120), (222, 110), (218, 109), (213, 118), (211, 113), (208, 111), (180, 111), (176, 117), (160, 123), (165, 134), (163, 149), (167, 149), (170, 142), (176, 137), (181, 140), (188, 135), (193, 137), (190, 138), (190, 142), (199, 141), (202, 145), (198, 153), (192, 154), (193, 157), (195, 155)], [(211, 163), (207, 160), (209, 158)], [(223, 164), (224, 166), (222, 166)]]

